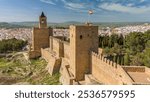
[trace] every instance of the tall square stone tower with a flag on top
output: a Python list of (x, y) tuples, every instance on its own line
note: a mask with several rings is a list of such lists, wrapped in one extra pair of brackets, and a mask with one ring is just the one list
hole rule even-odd
[(91, 73), (91, 51), (98, 53), (98, 26), (70, 26), (70, 67), (76, 81)]

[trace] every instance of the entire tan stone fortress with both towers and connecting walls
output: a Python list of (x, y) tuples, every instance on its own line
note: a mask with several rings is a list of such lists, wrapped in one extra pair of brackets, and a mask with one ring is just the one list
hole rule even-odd
[(33, 28), (29, 58), (42, 57), (51, 75), (60, 73), (64, 85), (148, 85), (150, 68), (120, 66), (106, 59), (98, 47), (98, 26), (71, 25), (70, 42), (53, 36), (42, 12), (39, 27)]

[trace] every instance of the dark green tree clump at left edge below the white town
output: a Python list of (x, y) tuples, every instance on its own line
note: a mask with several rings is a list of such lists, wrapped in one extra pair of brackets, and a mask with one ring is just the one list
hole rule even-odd
[(8, 39), (0, 41), (0, 53), (6, 53), (10, 51), (20, 51), (27, 45), (27, 41), (18, 39)]

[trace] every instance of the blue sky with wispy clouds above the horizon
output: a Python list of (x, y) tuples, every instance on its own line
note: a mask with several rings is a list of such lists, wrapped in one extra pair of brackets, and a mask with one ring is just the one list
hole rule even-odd
[(0, 22), (38, 21), (42, 11), (49, 22), (150, 22), (150, 0), (0, 0)]

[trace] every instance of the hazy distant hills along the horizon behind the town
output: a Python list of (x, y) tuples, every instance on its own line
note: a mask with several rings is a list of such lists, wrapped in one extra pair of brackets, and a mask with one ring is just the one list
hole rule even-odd
[[(99, 27), (122, 27), (127, 25), (141, 25), (147, 22), (93, 22), (94, 25), (97, 25)], [(38, 26), (39, 22), (0, 22), (0, 28), (31, 28)], [(55, 23), (55, 22), (48, 22), (48, 26), (54, 27), (54, 28), (60, 28), (60, 27), (69, 27), (69, 25), (81, 25), (85, 24), (84, 22), (77, 22), (77, 21), (68, 21), (68, 22), (62, 22), (62, 23)]]

